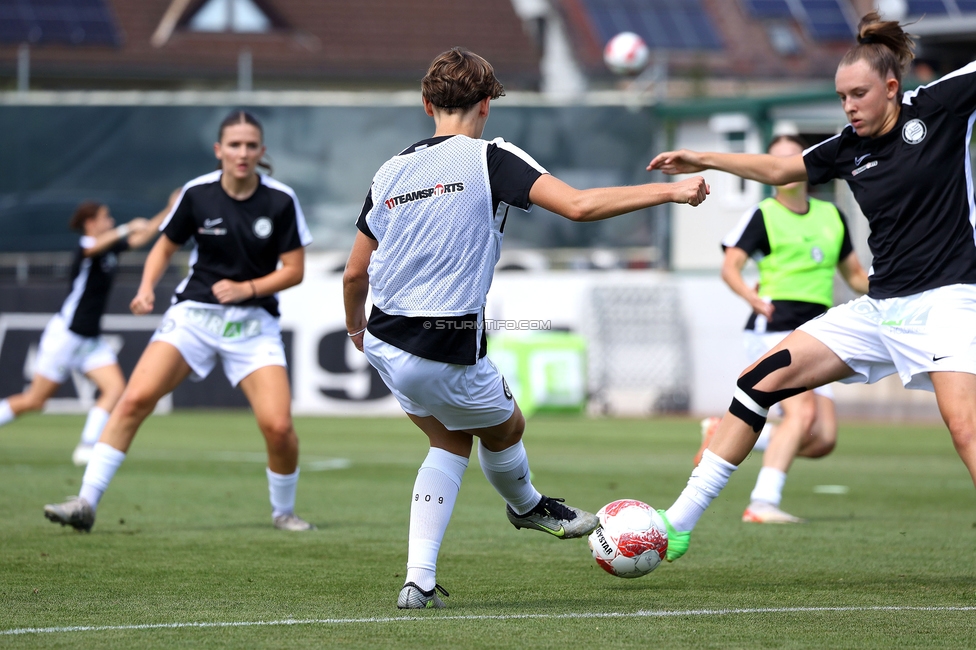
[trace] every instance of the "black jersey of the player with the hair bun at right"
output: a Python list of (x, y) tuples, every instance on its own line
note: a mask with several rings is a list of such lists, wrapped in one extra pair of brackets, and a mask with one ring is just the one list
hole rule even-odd
[(848, 125), (804, 152), (810, 182), (847, 181), (868, 219), (872, 298), (976, 283), (974, 120), (976, 62), (906, 92), (888, 133)]

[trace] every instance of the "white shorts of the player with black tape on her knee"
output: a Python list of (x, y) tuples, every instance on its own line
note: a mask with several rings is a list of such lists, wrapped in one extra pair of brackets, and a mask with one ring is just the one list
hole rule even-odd
[(862, 296), (801, 325), (871, 384), (898, 373), (905, 388), (933, 390), (930, 372), (976, 375), (976, 285), (901, 298)]

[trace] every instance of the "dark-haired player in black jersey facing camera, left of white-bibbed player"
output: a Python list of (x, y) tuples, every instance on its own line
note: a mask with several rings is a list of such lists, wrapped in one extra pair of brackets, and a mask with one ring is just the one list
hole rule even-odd
[(251, 403), (267, 442), (275, 527), (313, 528), (294, 513), (298, 438), (275, 297), (302, 281), (303, 247), (311, 237), (292, 189), (257, 172), (265, 152), (258, 121), (234, 111), (221, 123), (217, 140), (220, 169), (183, 187), (146, 259), (132, 312), (152, 311), (156, 283), (173, 253), (192, 237), (189, 274), (95, 445), (81, 492), (45, 506), (51, 521), (91, 530), (99, 499), (156, 402), (187, 377), (206, 377), (219, 358), (227, 379)]

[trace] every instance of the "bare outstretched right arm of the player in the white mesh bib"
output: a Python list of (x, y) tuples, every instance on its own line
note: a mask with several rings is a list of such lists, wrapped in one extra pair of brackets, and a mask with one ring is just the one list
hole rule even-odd
[(532, 185), (529, 200), (571, 221), (599, 221), (662, 203), (696, 206), (705, 200), (708, 191), (708, 184), (701, 176), (675, 183), (577, 190), (554, 176), (543, 174)]

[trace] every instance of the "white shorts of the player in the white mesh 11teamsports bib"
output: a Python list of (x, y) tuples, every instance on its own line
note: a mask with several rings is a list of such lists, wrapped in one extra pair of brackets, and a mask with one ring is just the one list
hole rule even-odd
[(431, 361), (368, 331), (363, 349), (404, 411), (434, 416), (449, 431), (493, 427), (515, 411), (512, 392), (488, 357), (473, 366)]

